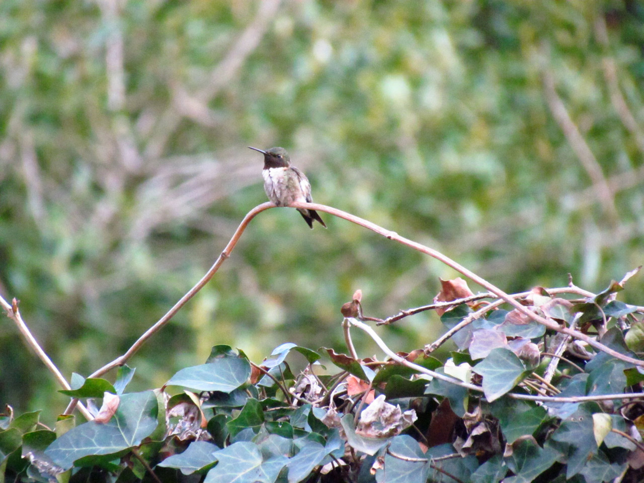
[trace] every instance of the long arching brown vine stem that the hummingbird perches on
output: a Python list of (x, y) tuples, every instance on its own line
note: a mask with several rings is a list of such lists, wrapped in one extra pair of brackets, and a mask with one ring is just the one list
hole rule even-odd
[[(222, 263), (231, 255), (232, 250), (237, 245), (237, 242), (240, 240), (243, 232), (245, 231), (246, 227), (251, 222), (251, 220), (258, 214), (260, 214), (262, 211), (265, 211), (267, 209), (274, 208), (274, 207), (276, 207), (276, 205), (268, 202), (268, 203), (263, 203), (261, 205), (257, 205), (251, 211), (249, 211), (249, 213), (247, 213), (246, 216), (244, 216), (242, 223), (240, 223), (240, 225), (237, 227), (236, 231), (232, 235), (231, 240), (228, 242), (223, 252), (220, 254), (220, 256), (218, 256), (213, 266), (206, 272), (206, 274), (202, 277), (202, 279), (200, 279), (200, 281), (198, 281), (196, 285), (194, 285), (194, 287), (190, 289), (174, 305), (174, 307), (172, 307), (163, 317), (161, 317), (155, 323), (155, 325), (147, 329), (146, 332), (144, 332), (144, 334), (142, 334), (142, 336), (140, 336), (137, 339), (137, 341), (135, 341), (135, 343), (128, 349), (128, 351), (125, 354), (121, 355), (120, 357), (117, 357), (113, 361), (102, 366), (102, 368), (93, 372), (93, 374), (91, 374), (90, 377), (99, 377), (100, 375), (105, 374), (109, 370), (126, 363), (126, 361), (128, 361), (128, 359), (132, 357), (132, 355), (134, 355), (141, 348), (142, 345), (144, 345), (147, 339), (149, 339), (151, 336), (156, 334), (158, 330), (160, 330), (164, 325), (166, 325), (166, 323), (173, 316), (175, 316), (176, 312), (178, 312), (180, 308), (182, 308), (185, 305), (185, 303), (189, 301), (189, 299), (193, 298), (194, 295), (197, 292), (199, 292), (199, 290), (201, 290), (211, 278), (213, 278), (214, 274), (217, 272), (217, 270), (219, 270), (219, 267), (221, 267)], [(346, 211), (342, 211), (327, 205), (320, 205), (317, 203), (296, 202), (296, 203), (292, 203), (290, 207), (314, 209), (318, 211), (323, 211), (324, 213), (332, 214), (333, 216), (337, 216), (338, 218), (343, 218), (348, 222), (352, 222), (352, 223), (355, 223), (356, 225), (360, 225), (361, 227), (365, 227), (366, 229), (374, 231), (377, 234), (381, 234), (382, 236), (384, 236), (385, 238), (388, 238), (389, 240), (394, 240), (395, 242), (401, 243), (406, 247), (410, 247), (416, 251), (422, 252), (433, 258), (436, 258), (437, 260), (442, 261), (442, 263), (445, 263), (449, 267), (452, 267), (453, 269), (459, 271), (461, 274), (472, 279), (473, 281), (478, 283), (478, 285), (485, 287), (487, 290), (489, 290), (489, 292), (492, 292), (498, 298), (504, 299), (507, 303), (515, 307), (519, 312), (521, 312), (522, 314), (526, 314), (526, 316), (530, 317), (531, 319), (537, 321), (540, 324), (545, 325), (545, 327), (550, 328), (551, 330), (555, 330), (556, 332), (563, 332), (564, 334), (568, 334), (569, 336), (576, 337), (577, 339), (584, 341), (585, 343), (596, 348), (597, 350), (601, 350), (609, 355), (612, 355), (612, 357), (615, 357), (616, 359), (620, 359), (621, 361), (625, 361), (627, 363), (631, 363), (636, 366), (644, 366), (644, 361), (641, 361), (639, 359), (634, 359), (627, 355), (620, 354), (620, 352), (617, 352), (616, 350), (612, 350), (611, 348), (599, 343), (598, 341), (595, 341), (591, 337), (586, 336), (581, 332), (577, 332), (576, 330), (570, 330), (567, 327), (559, 327), (558, 324), (551, 322), (545, 319), (544, 317), (538, 316), (534, 312), (531, 312), (531, 310), (528, 310), (526, 307), (518, 303), (515, 299), (513, 299), (511, 296), (506, 294), (506, 292), (504, 292), (503, 290), (499, 289), (492, 283), (489, 283), (486, 279), (478, 276), (471, 270), (466, 269), (456, 261), (451, 260), (451, 258), (449, 258), (448, 256), (445, 256), (439, 251), (431, 249), (430, 247), (426, 247), (421, 243), (413, 242), (408, 238), (404, 238), (403, 236), (400, 236), (394, 231), (384, 229), (383, 227), (376, 225), (375, 223), (369, 222), (364, 218), (360, 218), (359, 216), (355, 216), (354, 214), (346, 213)], [(73, 411), (75, 402), (77, 402), (77, 399), (74, 399), (71, 401), (70, 406), (68, 406), (64, 414), (68, 414), (69, 412)]]

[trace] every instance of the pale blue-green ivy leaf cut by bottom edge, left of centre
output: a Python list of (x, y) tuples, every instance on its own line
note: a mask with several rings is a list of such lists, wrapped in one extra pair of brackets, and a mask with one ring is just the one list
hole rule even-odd
[(288, 459), (272, 457), (264, 460), (256, 444), (236, 442), (216, 451), (219, 461), (205, 477), (204, 483), (273, 483)]

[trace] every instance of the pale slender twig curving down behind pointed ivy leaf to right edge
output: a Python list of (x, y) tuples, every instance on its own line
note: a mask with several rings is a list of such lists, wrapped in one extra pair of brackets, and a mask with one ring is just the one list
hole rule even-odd
[[(477, 386), (475, 384), (470, 384), (470, 383), (464, 383), (463, 381), (460, 381), (459, 379), (454, 379), (452, 377), (449, 377), (444, 374), (440, 374), (439, 372), (434, 372), (433, 370), (426, 369), (422, 366), (419, 366), (414, 363), (410, 363), (407, 359), (404, 359), (404, 357), (399, 356), (393, 350), (391, 350), (381, 339), (378, 334), (375, 333), (375, 330), (366, 325), (365, 323), (362, 323), (361, 321), (357, 319), (352, 319), (350, 318), (349, 321), (352, 323), (352, 325), (355, 325), (355, 327), (364, 330), (369, 336), (374, 339), (374, 342), (383, 350), (385, 354), (387, 354), (389, 357), (391, 357), (394, 361), (396, 361), (399, 364), (402, 364), (404, 366), (407, 366), (409, 368), (412, 368), (413, 370), (416, 370), (417, 372), (420, 372), (421, 374), (427, 374), (431, 375), (431, 377), (435, 377), (436, 379), (440, 379), (440, 381), (445, 381), (446, 383), (451, 383), (451, 384), (456, 384), (457, 386), (461, 386), (467, 389), (471, 389), (473, 391), (477, 392), (482, 392), (483, 388), (480, 386)], [(512, 397), (513, 399), (524, 399), (526, 401), (543, 401), (545, 403), (581, 403), (583, 401), (607, 401), (610, 399), (634, 399), (636, 397), (642, 397), (642, 393), (621, 393), (621, 394), (597, 394), (597, 395), (592, 395), (592, 396), (571, 396), (571, 397), (561, 397), (561, 396), (535, 396), (531, 394), (519, 394), (519, 393), (507, 393), (509, 397)]]

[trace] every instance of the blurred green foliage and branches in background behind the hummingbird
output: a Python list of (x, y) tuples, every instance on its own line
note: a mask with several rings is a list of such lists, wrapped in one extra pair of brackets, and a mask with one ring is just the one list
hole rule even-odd
[[(600, 290), (644, 261), (643, 25), (634, 0), (3, 0), (0, 294), (67, 377), (93, 372), (266, 200), (246, 146), (286, 147), (316, 202), (508, 292), (569, 272)], [(323, 216), (253, 220), (131, 359), (132, 389), (217, 343), (256, 361), (287, 341), (345, 351), (355, 289), (386, 317), (456, 275)], [(642, 303), (641, 276), (622, 299)], [(396, 350), (439, 331), (430, 312), (379, 329)], [(57, 389), (1, 319), (0, 403), (53, 414)]]

